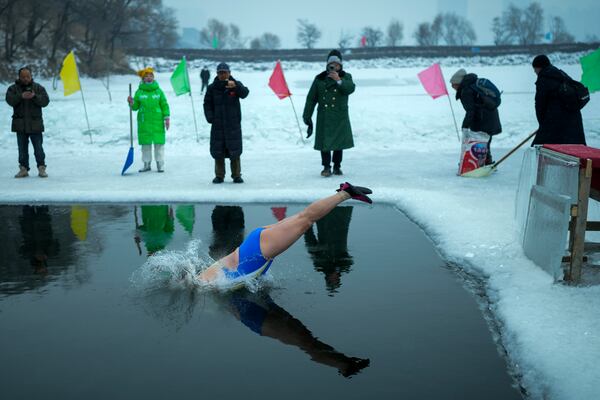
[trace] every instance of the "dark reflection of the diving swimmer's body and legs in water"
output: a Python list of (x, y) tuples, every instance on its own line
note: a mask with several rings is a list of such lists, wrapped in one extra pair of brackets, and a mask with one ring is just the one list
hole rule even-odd
[(344, 377), (369, 366), (368, 358), (348, 357), (313, 336), (302, 322), (279, 307), (266, 293), (241, 290), (227, 297), (237, 319), (261, 336), (296, 346), (319, 364), (337, 368)]

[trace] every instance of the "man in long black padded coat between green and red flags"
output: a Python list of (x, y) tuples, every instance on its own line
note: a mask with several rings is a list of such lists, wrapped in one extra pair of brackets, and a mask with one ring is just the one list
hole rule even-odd
[(242, 111), (240, 99), (249, 90), (231, 76), (229, 66), (220, 63), (217, 77), (204, 95), (204, 116), (210, 128), (210, 155), (215, 159), (213, 183), (223, 183), (225, 158), (231, 160), (231, 177), (234, 183), (244, 183), (240, 156), (242, 155)]

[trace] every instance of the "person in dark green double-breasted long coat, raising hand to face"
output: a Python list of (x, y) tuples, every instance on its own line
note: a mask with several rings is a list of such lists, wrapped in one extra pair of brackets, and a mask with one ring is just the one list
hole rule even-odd
[[(307, 138), (312, 135), (312, 114), (317, 107), (315, 150), (321, 152), (321, 176), (342, 175), (343, 150), (354, 147), (348, 115), (348, 96), (354, 93), (352, 75), (343, 70), (342, 54), (332, 50), (327, 56), (327, 68), (317, 75), (306, 96), (302, 118), (308, 125)], [(333, 157), (332, 157), (333, 152)]]

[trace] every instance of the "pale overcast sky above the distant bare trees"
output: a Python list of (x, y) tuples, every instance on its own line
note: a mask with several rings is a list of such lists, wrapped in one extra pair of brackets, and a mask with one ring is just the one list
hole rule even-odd
[[(253, 38), (272, 32), (281, 38), (282, 47), (299, 47), (296, 41), (298, 19), (316, 24), (323, 36), (317, 47), (335, 47), (340, 33), (358, 37), (365, 26), (385, 32), (391, 19), (404, 24), (403, 44), (414, 44), (412, 33), (420, 22), (431, 21), (439, 11), (466, 16), (474, 25), (478, 44), (492, 44), (492, 18), (510, 3), (525, 7), (527, 0), (361, 0), (332, 2), (322, 0), (163, 0), (176, 10), (179, 27), (201, 29), (210, 18), (240, 27), (242, 36)], [(600, 37), (599, 0), (541, 0), (548, 19), (560, 15), (578, 40), (588, 35)], [(356, 39), (358, 41), (358, 39)]]

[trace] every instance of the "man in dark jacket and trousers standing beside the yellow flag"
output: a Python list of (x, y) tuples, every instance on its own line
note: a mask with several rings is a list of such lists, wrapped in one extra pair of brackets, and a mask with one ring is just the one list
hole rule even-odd
[(13, 108), (12, 131), (17, 134), (19, 147), (19, 172), (15, 178), (29, 176), (29, 141), (33, 145), (38, 176), (48, 177), (46, 155), (42, 147), (42, 132), (44, 132), (42, 108), (50, 102), (46, 89), (33, 81), (29, 68), (21, 68), (19, 79), (6, 91), (6, 102)]

